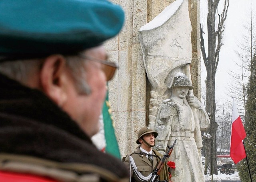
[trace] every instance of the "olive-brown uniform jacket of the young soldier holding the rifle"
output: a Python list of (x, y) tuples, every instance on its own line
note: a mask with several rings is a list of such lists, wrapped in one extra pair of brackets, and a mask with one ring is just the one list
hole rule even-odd
[[(160, 153), (158, 153), (155, 150), (152, 150), (152, 151), (153, 151), (152, 155), (153, 154), (157, 155), (160, 159), (162, 158), (162, 155)], [(148, 176), (150, 173), (152, 173), (153, 170), (156, 168), (158, 162), (160, 162), (159, 158), (153, 157), (153, 165), (152, 165), (145, 155), (137, 154), (140, 152), (141, 152), (141, 150), (138, 147), (136, 152), (126, 155), (126, 157), (124, 159), (124, 164), (126, 165), (126, 167), (128, 167), (128, 169), (130, 169), (130, 172), (131, 172), (130, 176), (131, 176), (131, 178), (133, 178), (134, 182), (142, 182), (142, 181), (135, 174), (132, 166), (130, 166), (130, 156), (132, 156), (132, 158), (134, 159), (134, 162), (137, 166), (138, 172), (140, 172), (143, 176)], [(169, 174), (168, 174), (168, 168), (167, 168), (166, 162), (164, 163), (164, 166), (160, 172), (160, 176), (158, 177), (158, 180), (160, 180), (160, 181), (168, 180), (169, 181)]]

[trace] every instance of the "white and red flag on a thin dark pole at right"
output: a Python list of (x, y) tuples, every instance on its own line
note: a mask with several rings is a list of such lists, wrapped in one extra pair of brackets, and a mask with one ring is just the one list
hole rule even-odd
[(246, 132), (233, 98), (232, 126), (230, 137), (230, 157), (237, 164), (240, 160), (246, 157), (243, 139), (246, 137)]

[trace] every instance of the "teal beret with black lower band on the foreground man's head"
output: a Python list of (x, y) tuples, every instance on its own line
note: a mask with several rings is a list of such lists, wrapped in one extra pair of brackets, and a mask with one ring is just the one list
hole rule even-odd
[(77, 53), (114, 37), (123, 23), (122, 8), (107, 0), (0, 0), (0, 57)]

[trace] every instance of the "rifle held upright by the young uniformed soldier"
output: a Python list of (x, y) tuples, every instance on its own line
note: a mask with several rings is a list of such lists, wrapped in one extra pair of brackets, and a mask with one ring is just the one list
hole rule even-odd
[(167, 157), (170, 157), (172, 151), (173, 151), (173, 147), (176, 143), (177, 139), (175, 139), (174, 143), (172, 144), (172, 146), (167, 145), (168, 147), (168, 152), (163, 156), (163, 158), (160, 160), (160, 162), (158, 163), (158, 165), (156, 166), (156, 168), (153, 170), (153, 174), (152, 177), (150, 179), (150, 182), (156, 182), (158, 176), (160, 175), (160, 172), (164, 166), (164, 161)]

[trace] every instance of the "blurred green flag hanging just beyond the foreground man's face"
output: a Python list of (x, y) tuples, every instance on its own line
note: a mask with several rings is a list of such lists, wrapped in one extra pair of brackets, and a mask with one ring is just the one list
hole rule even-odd
[(110, 104), (108, 102), (108, 92), (106, 94), (106, 100), (103, 104), (102, 109), (103, 123), (104, 123), (104, 133), (106, 140), (106, 153), (109, 153), (119, 159), (121, 159), (118, 143), (116, 140), (116, 135), (114, 131), (113, 117), (111, 113)]

